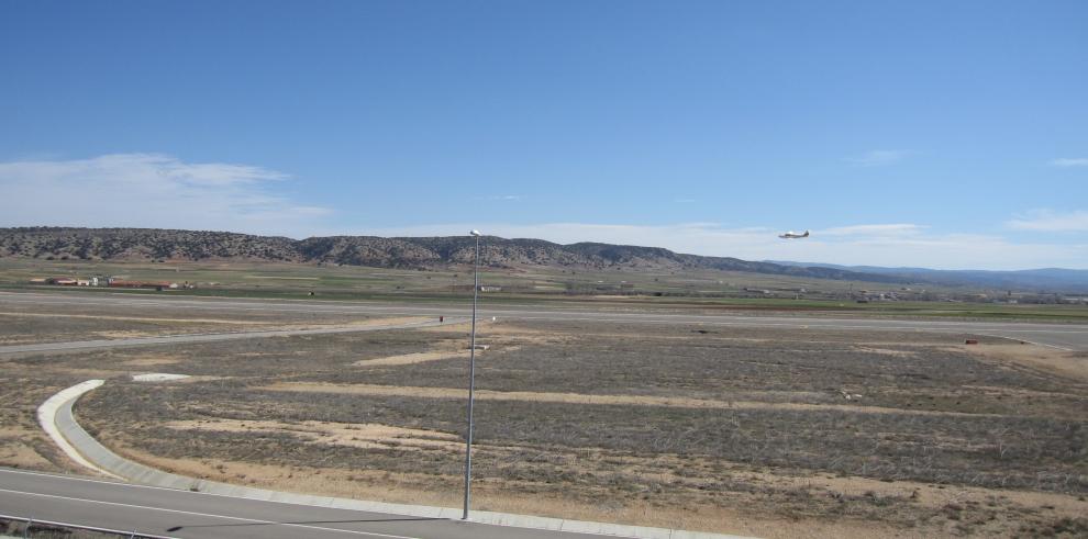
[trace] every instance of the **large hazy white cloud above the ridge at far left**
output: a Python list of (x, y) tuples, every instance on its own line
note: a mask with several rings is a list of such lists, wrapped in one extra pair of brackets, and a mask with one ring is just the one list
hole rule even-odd
[(289, 177), (162, 154), (0, 162), (0, 225), (201, 228), (303, 236), (326, 207), (299, 204), (274, 187)]

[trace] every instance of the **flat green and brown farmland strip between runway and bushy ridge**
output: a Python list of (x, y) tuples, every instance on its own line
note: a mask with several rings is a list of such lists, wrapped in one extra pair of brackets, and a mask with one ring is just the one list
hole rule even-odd
[[(464, 301), (471, 291), (471, 268), (417, 270), (313, 266), (273, 262), (97, 262), (85, 260), (0, 260), (0, 289), (59, 290), (32, 285), (36, 277), (115, 276), (130, 280), (191, 283), (173, 295), (399, 301)], [(557, 268), (487, 269), (480, 282), (501, 287), (485, 293), (488, 302), (593, 302), (706, 310), (792, 311), (898, 316), (1088, 321), (1085, 305), (989, 303), (1006, 291), (881, 284), (721, 271), (609, 271)], [(901, 290), (910, 288), (911, 290)], [(66, 288), (67, 289), (67, 288)], [(803, 292), (801, 290), (803, 289)], [(81, 289), (87, 292), (148, 294), (148, 290)], [(766, 293), (764, 292), (766, 291)], [(857, 303), (870, 295), (896, 293), (898, 301)], [(854, 296), (851, 296), (854, 293)], [(979, 297), (978, 294), (986, 294)], [(939, 301), (945, 297), (974, 301)]]

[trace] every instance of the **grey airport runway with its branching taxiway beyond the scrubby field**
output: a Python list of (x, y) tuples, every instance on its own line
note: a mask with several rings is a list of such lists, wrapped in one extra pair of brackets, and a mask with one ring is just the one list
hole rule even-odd
[[(470, 306), (457, 305), (422, 305), (391, 304), (389, 302), (322, 302), (322, 301), (279, 301), (279, 300), (233, 300), (233, 299), (192, 299), (192, 297), (145, 297), (133, 294), (110, 293), (0, 293), (0, 308), (18, 310), (21, 304), (37, 305), (85, 305), (112, 307), (141, 307), (164, 310), (192, 310), (208, 312), (281, 312), (281, 313), (330, 313), (358, 314), (367, 316), (434, 316), (446, 317), (468, 316)], [(614, 307), (613, 307), (614, 308)], [(601, 310), (592, 305), (487, 305), (480, 308), (480, 316), (489, 318), (497, 316), (503, 319), (520, 321), (566, 321), (566, 322), (613, 322), (632, 324), (703, 324), (711, 326), (737, 327), (780, 327), (789, 329), (854, 329), (854, 330), (906, 330), (906, 332), (937, 332), (972, 335), (989, 335), (1035, 343), (1063, 350), (1088, 351), (1088, 325), (1079, 324), (1041, 324), (1015, 322), (965, 322), (947, 319), (900, 319), (900, 318), (831, 318), (824, 316), (765, 316), (765, 315), (726, 315), (726, 314), (690, 314), (676, 310), (634, 311)], [(364, 330), (358, 328), (356, 330)], [(55, 343), (43, 345), (24, 345), (21, 347), (0, 347), (0, 353), (29, 351), (63, 350), (71, 348), (100, 348), (114, 346), (156, 345), (165, 343), (196, 343), (208, 340), (226, 340), (278, 336), (303, 333), (342, 333), (353, 330), (343, 327), (322, 329), (306, 329), (293, 332), (244, 332), (231, 334), (178, 335), (167, 337), (151, 337), (143, 339), (113, 339), (104, 341)]]

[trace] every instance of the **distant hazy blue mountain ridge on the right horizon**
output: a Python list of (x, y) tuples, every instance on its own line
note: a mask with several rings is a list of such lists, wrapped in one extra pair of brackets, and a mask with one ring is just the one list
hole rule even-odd
[(768, 263), (797, 268), (829, 268), (859, 273), (899, 277), (914, 282), (1008, 290), (1063, 291), (1088, 293), (1088, 270), (1039, 268), (1028, 270), (934, 270), (928, 268), (884, 268), (834, 263), (768, 260)]

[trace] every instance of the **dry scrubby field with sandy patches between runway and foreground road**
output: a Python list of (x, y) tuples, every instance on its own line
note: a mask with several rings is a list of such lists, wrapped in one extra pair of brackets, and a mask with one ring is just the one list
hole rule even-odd
[[(67, 467), (33, 408), (96, 377), (77, 414), (133, 459), (457, 506), (466, 332), (0, 359), (0, 464)], [(485, 324), (476, 507), (762, 537), (1088, 534), (1088, 357), (965, 337)]]

